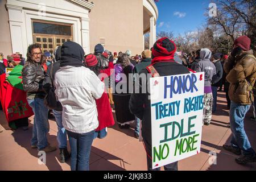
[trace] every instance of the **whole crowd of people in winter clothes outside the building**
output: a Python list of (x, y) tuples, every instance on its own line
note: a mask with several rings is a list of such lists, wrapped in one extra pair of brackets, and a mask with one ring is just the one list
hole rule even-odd
[[(189, 55), (183, 53), (183, 63), (180, 64), (175, 61), (175, 52), (176, 44), (168, 38), (157, 40), (150, 50), (146, 49), (141, 55), (135, 56), (132, 56), (130, 50), (112, 54), (101, 44), (94, 47), (94, 53), (87, 55), (79, 44), (71, 41), (57, 47), (53, 55), (42, 53), (39, 44), (30, 45), (27, 60), (20, 55), (23, 63), (20, 61), (19, 64), (24, 65), (23, 89), (27, 92), (28, 105), (35, 114), (31, 147), (45, 152), (56, 150), (47, 140), (51, 110), (50, 115), (54, 115), (58, 128), (60, 162), (64, 163), (71, 158), (71, 170), (89, 170), (93, 140), (106, 137), (108, 127), (115, 123), (115, 113), (120, 129), (129, 129), (131, 123), (135, 122), (134, 137), (143, 138), (147, 168), (153, 170), (150, 156), (150, 92), (141, 92), (141, 86), (148, 85), (149, 80), (147, 78), (143, 83), (132, 77), (133, 82), (139, 81), (139, 93), (115, 92), (114, 88), (133, 90), (130, 88), (129, 74), (158, 73), (159, 76), (168, 76), (194, 71), (205, 73), (203, 125), (210, 125), (212, 113), (218, 109), (218, 89), (222, 90), (224, 85), (233, 136), (230, 145), (223, 147), (236, 155), (243, 154), (236, 159), (239, 164), (256, 162), (255, 151), (243, 127), (245, 114), (254, 103), (256, 80), (256, 60), (250, 50), (250, 39), (247, 36), (236, 39), (229, 56), (202, 48)], [(15, 60), (13, 62), (10, 57), (6, 61), (1, 53), (1, 74), (5, 73), (6, 67), (15, 66)], [(149, 66), (154, 72), (147, 69)], [(113, 80), (110, 78), (112, 76)], [(27, 126), (28, 122), (24, 129)], [(70, 152), (67, 149), (67, 138)], [(177, 163), (168, 164), (164, 169), (177, 170)]]

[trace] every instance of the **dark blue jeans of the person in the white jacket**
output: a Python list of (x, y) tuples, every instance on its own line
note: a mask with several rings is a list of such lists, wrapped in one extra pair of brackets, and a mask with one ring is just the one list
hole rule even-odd
[(90, 149), (92, 147), (94, 130), (89, 133), (78, 134), (68, 131), (71, 147), (71, 170), (89, 171)]

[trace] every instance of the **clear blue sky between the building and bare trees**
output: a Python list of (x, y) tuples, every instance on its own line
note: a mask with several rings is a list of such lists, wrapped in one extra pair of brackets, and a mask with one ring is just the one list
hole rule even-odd
[(196, 31), (205, 23), (209, 0), (159, 0), (156, 32), (172, 31), (174, 36)]

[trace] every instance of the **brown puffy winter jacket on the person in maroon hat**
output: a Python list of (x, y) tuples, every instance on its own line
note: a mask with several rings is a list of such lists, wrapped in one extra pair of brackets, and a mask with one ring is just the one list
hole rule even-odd
[(230, 55), (224, 63), (224, 71), (228, 74), (226, 80), (230, 82), (230, 100), (242, 105), (251, 104), (251, 99), (254, 98), (250, 98), (250, 90), (256, 80), (256, 59), (253, 50), (243, 51), (235, 58)]

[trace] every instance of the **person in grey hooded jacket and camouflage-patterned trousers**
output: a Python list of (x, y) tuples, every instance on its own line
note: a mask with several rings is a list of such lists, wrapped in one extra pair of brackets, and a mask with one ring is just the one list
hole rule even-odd
[(216, 75), (216, 67), (210, 61), (212, 52), (207, 49), (201, 49), (200, 58), (201, 61), (196, 65), (196, 72), (204, 72), (204, 118), (203, 125), (210, 125), (212, 120), (212, 105), (213, 105), (213, 96), (212, 96), (212, 77)]

